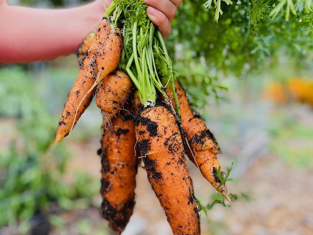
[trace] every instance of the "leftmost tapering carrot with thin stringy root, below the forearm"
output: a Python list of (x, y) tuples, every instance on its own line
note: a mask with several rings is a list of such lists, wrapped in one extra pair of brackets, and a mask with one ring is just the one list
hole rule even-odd
[[(70, 133), (80, 116), (89, 106), (95, 92), (95, 86), (97, 81), (99, 81), (99, 76), (102, 77), (105, 74), (103, 71), (109, 74), (117, 67), (122, 48), (121, 41), (119, 30), (114, 27), (112, 29), (109, 20), (104, 18), (96, 30), (88, 54), (83, 60), (83, 66), (79, 72), (78, 78), (68, 94), (67, 102), (59, 121), (55, 137), (56, 142), (63, 140)], [(113, 45), (116, 47), (113, 47)], [(115, 54), (116, 58), (114, 57), (115, 60), (112, 59), (112, 62), (110, 62), (110, 59), (101, 61), (100, 58), (103, 58), (105, 54), (110, 53), (110, 51), (120, 53)], [(105, 66), (105, 63), (108, 63), (107, 66)], [(104, 66), (106, 70), (102, 70)], [(113, 69), (113, 67), (115, 68)], [(99, 72), (99, 68), (101, 72)]]

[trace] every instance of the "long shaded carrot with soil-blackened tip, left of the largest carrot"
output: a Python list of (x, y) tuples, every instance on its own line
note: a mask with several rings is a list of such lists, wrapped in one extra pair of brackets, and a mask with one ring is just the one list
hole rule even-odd
[(119, 233), (124, 231), (134, 209), (135, 141), (134, 120), (128, 111), (112, 118), (112, 126), (104, 128), (101, 140), (102, 214), (110, 227)]

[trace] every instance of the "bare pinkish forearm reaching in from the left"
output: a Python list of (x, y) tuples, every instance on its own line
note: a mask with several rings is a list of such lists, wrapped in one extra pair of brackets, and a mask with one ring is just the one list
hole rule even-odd
[(32, 62), (74, 53), (103, 17), (104, 10), (95, 11), (93, 4), (71, 9), (2, 4), (0, 62)]

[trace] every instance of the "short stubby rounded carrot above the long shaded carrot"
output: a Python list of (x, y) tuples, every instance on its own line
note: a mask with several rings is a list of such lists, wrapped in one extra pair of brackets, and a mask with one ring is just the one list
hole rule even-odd
[[(124, 108), (124, 104), (132, 94), (133, 88), (132, 80), (122, 71), (113, 71), (98, 84), (96, 104), (102, 110), (104, 119), (107, 122)], [(105, 121), (103, 124), (105, 124)]]

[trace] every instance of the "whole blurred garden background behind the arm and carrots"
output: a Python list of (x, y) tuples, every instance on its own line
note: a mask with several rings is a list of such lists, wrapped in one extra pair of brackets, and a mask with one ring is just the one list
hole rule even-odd
[[(224, 11), (218, 23), (214, 2)], [(203, 3), (183, 1), (166, 40), (176, 76), (219, 142), (219, 161), (225, 170), (233, 163), (226, 183), (237, 198), (232, 206), (188, 163), (207, 211), (201, 234), (313, 234), (312, 2)], [(102, 116), (94, 102), (49, 152), (78, 72), (76, 55), (0, 64), (0, 235), (112, 234), (100, 212)], [(123, 235), (171, 233), (139, 167), (134, 215)]]

